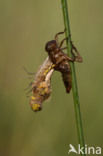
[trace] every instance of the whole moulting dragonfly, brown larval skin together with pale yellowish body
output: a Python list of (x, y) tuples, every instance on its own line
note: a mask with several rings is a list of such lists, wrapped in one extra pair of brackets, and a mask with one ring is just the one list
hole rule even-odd
[(72, 45), (73, 58), (68, 57), (62, 48), (62, 45), (67, 38), (63, 39), (58, 44), (58, 35), (64, 32), (59, 32), (55, 35), (55, 40), (47, 42), (45, 50), (48, 53), (48, 57), (40, 66), (37, 74), (35, 75), (34, 82), (32, 83), (32, 96), (30, 98), (30, 105), (33, 111), (40, 111), (42, 109), (42, 103), (49, 98), (51, 94), (51, 76), (53, 71), (59, 71), (62, 74), (62, 79), (66, 88), (66, 92), (69, 93), (72, 87), (71, 69), (69, 62), (82, 62), (82, 57), (79, 52)]

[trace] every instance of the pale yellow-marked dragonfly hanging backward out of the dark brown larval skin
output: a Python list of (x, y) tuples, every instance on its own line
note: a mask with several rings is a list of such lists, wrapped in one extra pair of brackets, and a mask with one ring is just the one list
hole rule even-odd
[(50, 58), (47, 57), (35, 74), (32, 82), (32, 96), (29, 102), (34, 112), (42, 110), (42, 103), (51, 95), (51, 76), (54, 66)]

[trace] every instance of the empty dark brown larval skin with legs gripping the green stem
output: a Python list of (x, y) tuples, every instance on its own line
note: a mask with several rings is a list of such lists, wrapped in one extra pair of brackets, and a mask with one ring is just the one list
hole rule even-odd
[(77, 51), (76, 47), (71, 42), (73, 58), (68, 57), (63, 50), (67, 47), (62, 48), (65, 40), (69, 38), (64, 38), (60, 44), (58, 44), (58, 35), (64, 32), (59, 32), (55, 35), (55, 40), (47, 42), (45, 50), (47, 51), (50, 60), (55, 64), (54, 69), (61, 72), (62, 79), (66, 88), (66, 92), (69, 93), (72, 87), (71, 69), (69, 62), (82, 62), (82, 57)]

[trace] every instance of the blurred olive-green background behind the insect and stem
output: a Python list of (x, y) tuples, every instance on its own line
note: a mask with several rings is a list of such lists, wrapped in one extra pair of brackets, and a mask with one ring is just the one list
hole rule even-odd
[[(85, 142), (103, 146), (103, 0), (68, 0)], [(47, 54), (45, 43), (64, 30), (60, 0), (0, 1), (0, 156), (63, 156), (77, 147), (72, 92), (60, 73), (52, 96), (34, 113), (24, 88)], [(62, 37), (61, 37), (62, 39)], [(102, 151), (103, 152), (103, 151)], [(73, 155), (73, 154), (71, 154)]]

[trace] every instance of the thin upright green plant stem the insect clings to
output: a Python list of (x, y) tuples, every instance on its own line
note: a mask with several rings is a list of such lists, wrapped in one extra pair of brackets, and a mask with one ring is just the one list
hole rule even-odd
[[(69, 40), (67, 40), (67, 52), (68, 52), (68, 55), (70, 57), (72, 57), (71, 33), (70, 33), (70, 23), (69, 23), (67, 0), (61, 0), (61, 4), (62, 4), (62, 10), (63, 10), (64, 25), (65, 25), (65, 29), (66, 29), (65, 33), (66, 33), (66, 37), (69, 38)], [(85, 143), (84, 143), (82, 118), (81, 118), (81, 111), (80, 111), (80, 101), (79, 101), (79, 95), (78, 95), (78, 87), (77, 87), (74, 63), (70, 62), (70, 67), (71, 67), (71, 75), (72, 75), (72, 92), (73, 92), (78, 140), (79, 140), (79, 144), (81, 145), (81, 147), (84, 147)], [(86, 156), (85, 154), (81, 154), (81, 155)]]

